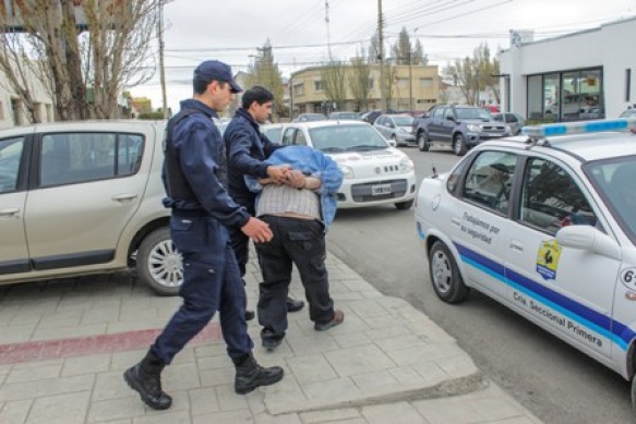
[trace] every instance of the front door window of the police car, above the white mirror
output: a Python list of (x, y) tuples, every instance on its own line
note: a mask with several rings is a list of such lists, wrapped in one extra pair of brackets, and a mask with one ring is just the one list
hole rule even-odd
[(519, 220), (551, 234), (565, 226), (596, 226), (596, 216), (572, 177), (545, 159), (528, 160)]

